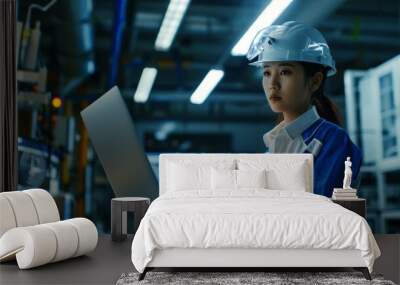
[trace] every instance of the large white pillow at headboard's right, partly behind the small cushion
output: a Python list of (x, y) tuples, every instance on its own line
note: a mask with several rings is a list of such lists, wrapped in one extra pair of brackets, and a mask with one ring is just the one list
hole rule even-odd
[(305, 160), (238, 160), (239, 170), (266, 169), (267, 188), (274, 190), (307, 191), (308, 165)]

